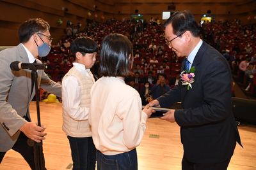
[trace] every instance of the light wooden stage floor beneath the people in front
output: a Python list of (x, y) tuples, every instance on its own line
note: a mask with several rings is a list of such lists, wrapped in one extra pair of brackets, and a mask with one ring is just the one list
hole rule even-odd
[[(36, 122), (35, 102), (30, 104), (30, 111), (33, 122)], [(42, 102), (40, 113), (41, 122), (47, 127), (47, 136), (43, 142), (45, 167), (48, 170), (72, 169), (68, 139), (61, 129), (61, 103)], [(256, 125), (240, 125), (238, 129), (244, 148), (236, 146), (228, 170), (256, 169)], [(181, 169), (183, 149), (179, 126), (159, 118), (149, 118), (147, 130), (141, 145), (137, 147), (137, 152), (140, 170)], [(0, 169), (26, 170), (29, 166), (19, 153), (10, 150), (0, 164)]]

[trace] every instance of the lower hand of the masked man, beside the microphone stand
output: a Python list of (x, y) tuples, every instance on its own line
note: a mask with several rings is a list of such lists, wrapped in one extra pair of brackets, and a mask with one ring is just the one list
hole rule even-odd
[(22, 125), (19, 130), (24, 132), (24, 134), (26, 134), (28, 138), (36, 141), (37, 143), (40, 143), (42, 140), (45, 139), (44, 136), (47, 135), (47, 133), (44, 133), (45, 129), (46, 127), (44, 125), (41, 125), (41, 127), (39, 127), (34, 122), (26, 122), (26, 124)]

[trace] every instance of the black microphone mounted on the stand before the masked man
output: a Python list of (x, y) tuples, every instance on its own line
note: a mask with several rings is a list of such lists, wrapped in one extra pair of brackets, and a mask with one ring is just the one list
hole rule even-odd
[(10, 64), (10, 68), (13, 71), (19, 71), (20, 69), (30, 69), (30, 70), (47, 69), (47, 65), (46, 64), (23, 63), (23, 62), (20, 62), (20, 61), (13, 61)]

